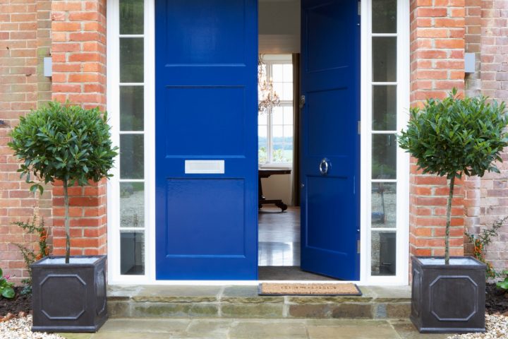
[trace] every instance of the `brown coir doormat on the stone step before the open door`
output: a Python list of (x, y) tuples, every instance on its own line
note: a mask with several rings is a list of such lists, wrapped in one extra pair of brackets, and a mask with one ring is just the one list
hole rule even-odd
[(259, 295), (362, 295), (353, 283), (261, 283)]

